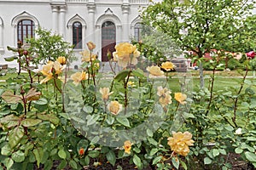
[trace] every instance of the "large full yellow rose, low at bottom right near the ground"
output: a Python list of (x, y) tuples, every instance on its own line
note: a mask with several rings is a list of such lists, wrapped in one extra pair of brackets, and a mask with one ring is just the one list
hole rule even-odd
[(194, 145), (195, 141), (192, 140), (192, 134), (189, 132), (172, 132), (172, 137), (168, 138), (168, 145), (171, 150), (181, 156), (187, 156), (189, 154), (189, 146)]

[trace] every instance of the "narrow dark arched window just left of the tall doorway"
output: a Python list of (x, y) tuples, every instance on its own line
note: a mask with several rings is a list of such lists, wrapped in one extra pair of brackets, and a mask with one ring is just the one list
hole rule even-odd
[(73, 23), (73, 46), (75, 49), (81, 49), (83, 47), (82, 24), (80, 22)]

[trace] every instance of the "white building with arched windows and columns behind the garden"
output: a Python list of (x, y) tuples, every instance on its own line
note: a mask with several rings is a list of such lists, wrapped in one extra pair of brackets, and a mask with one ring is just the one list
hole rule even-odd
[(99, 59), (106, 61), (108, 48), (113, 51), (116, 43), (139, 36), (139, 8), (148, 3), (149, 0), (0, 0), (0, 65), (16, 65), (3, 59), (14, 55), (7, 46), (16, 48), (18, 40), (37, 37), (38, 26), (73, 43), (75, 54), (86, 48), (86, 42), (95, 42)]

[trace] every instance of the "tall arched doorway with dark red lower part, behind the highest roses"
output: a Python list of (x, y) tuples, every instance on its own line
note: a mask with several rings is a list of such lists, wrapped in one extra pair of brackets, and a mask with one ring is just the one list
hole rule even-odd
[(111, 21), (102, 24), (102, 61), (108, 61), (108, 50), (112, 53), (115, 51), (115, 25)]

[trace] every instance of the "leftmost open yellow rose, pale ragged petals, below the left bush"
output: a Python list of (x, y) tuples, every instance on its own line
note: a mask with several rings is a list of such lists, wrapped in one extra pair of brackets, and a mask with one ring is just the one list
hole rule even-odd
[(43, 66), (43, 70), (40, 71), (45, 78), (40, 82), (40, 84), (44, 82), (48, 82), (53, 77), (58, 77), (59, 74), (66, 68), (66, 65), (61, 65), (59, 61), (49, 61), (47, 65)]

